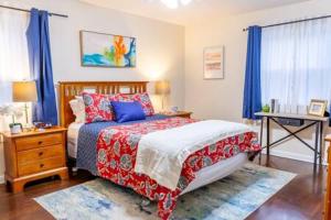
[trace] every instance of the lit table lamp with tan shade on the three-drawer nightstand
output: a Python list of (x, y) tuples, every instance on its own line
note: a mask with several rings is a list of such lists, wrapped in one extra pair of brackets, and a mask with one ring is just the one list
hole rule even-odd
[(13, 102), (24, 102), (25, 121), (29, 124), (28, 102), (38, 101), (35, 81), (13, 81), (12, 82)]

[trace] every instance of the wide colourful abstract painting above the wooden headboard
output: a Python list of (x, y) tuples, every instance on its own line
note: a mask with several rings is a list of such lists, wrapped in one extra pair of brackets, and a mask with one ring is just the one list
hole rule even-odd
[(136, 38), (81, 31), (82, 66), (136, 67)]

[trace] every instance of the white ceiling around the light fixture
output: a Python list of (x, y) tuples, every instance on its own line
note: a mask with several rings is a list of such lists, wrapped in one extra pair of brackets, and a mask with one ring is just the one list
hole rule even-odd
[(189, 24), (205, 18), (226, 16), (275, 8), (308, 0), (192, 0), (189, 6), (169, 9), (160, 0), (81, 0), (90, 4), (158, 19)]

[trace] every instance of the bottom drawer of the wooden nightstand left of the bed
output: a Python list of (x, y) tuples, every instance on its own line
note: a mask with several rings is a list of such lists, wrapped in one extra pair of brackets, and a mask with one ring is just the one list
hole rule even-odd
[(64, 166), (64, 158), (62, 156), (41, 160), (35, 163), (30, 163), (19, 166), (19, 176), (35, 174), (39, 172), (57, 168)]

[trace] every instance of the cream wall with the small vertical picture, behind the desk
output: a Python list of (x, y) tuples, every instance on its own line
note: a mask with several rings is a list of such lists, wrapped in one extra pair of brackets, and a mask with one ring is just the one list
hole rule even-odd
[[(313, 0), (247, 14), (221, 18), (185, 28), (185, 109), (196, 118), (242, 121), (248, 25), (266, 25), (331, 14), (330, 0)], [(203, 48), (225, 45), (225, 79), (203, 80)], [(258, 131), (258, 128), (256, 128)], [(285, 134), (274, 130), (273, 136)], [(303, 138), (312, 143), (311, 132)], [(291, 140), (273, 151), (276, 155), (312, 161), (312, 152)]]

